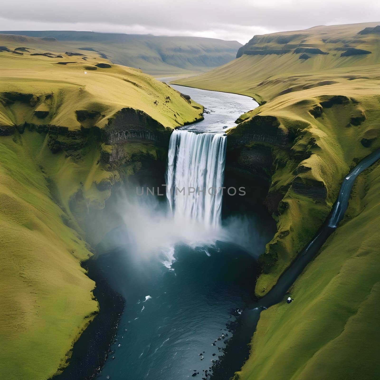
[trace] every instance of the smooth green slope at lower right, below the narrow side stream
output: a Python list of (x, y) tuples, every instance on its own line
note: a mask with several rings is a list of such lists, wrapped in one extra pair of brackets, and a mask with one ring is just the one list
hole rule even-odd
[(356, 180), (344, 220), (291, 288), (261, 313), (236, 379), (375, 379), (380, 313), (380, 164)]

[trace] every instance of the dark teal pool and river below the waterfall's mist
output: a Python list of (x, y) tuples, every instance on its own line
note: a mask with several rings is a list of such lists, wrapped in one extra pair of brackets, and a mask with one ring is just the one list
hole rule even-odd
[(255, 259), (222, 242), (177, 245), (171, 269), (159, 261), (136, 268), (133, 254), (123, 248), (98, 259), (126, 307), (97, 378), (177, 380), (210, 371), (252, 303)]

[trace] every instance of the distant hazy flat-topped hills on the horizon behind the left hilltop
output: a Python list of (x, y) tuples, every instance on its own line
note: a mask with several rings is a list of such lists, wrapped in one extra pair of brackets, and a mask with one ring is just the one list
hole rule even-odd
[[(8, 31), (6, 34), (55, 38), (70, 49), (93, 49), (111, 62), (154, 76), (194, 75), (233, 60), (242, 45), (215, 38), (127, 35), (74, 31)], [(86, 52), (83, 51), (82, 52)], [(98, 54), (99, 55), (99, 54)]]

